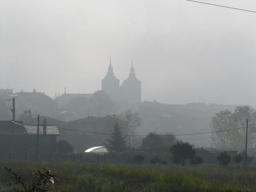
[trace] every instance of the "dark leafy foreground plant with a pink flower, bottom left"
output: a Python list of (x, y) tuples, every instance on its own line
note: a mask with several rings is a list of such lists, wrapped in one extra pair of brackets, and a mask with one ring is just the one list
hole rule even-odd
[(14, 189), (15, 192), (47, 192), (53, 190), (52, 184), (54, 184), (54, 177), (56, 174), (51, 174), (50, 170), (44, 169), (44, 172), (38, 170), (35, 175), (37, 178), (32, 182), (32, 185), (25, 184), (25, 178), (22, 178), (18, 172), (13, 172), (12, 169), (4, 167), (8, 173), (12, 174), (12, 178), (15, 184), (20, 184), (20, 189)]

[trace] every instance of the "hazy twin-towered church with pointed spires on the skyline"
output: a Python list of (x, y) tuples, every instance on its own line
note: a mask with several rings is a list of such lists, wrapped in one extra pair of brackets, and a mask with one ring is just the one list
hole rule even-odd
[(116, 78), (111, 64), (108, 66), (108, 72), (102, 79), (102, 90), (108, 94), (111, 100), (117, 102), (140, 102), (141, 101), (141, 81), (135, 74), (135, 69), (130, 69), (129, 77), (123, 81), (120, 86), (120, 80)]

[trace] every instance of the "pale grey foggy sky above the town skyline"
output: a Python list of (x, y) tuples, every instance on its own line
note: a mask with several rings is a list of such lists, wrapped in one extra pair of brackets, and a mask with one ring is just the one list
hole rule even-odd
[(133, 58), (142, 100), (256, 106), (255, 21), (186, 0), (0, 0), (0, 88), (94, 92), (111, 55), (120, 82)]

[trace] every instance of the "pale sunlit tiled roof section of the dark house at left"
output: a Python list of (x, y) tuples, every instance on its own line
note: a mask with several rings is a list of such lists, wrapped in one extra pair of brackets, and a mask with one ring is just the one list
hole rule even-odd
[[(37, 126), (36, 125), (24, 125), (24, 128), (29, 135), (36, 135), (37, 134)], [(39, 134), (43, 135), (43, 125), (39, 125)], [(59, 129), (57, 125), (47, 125), (46, 126), (46, 134), (47, 135), (59, 135)]]

